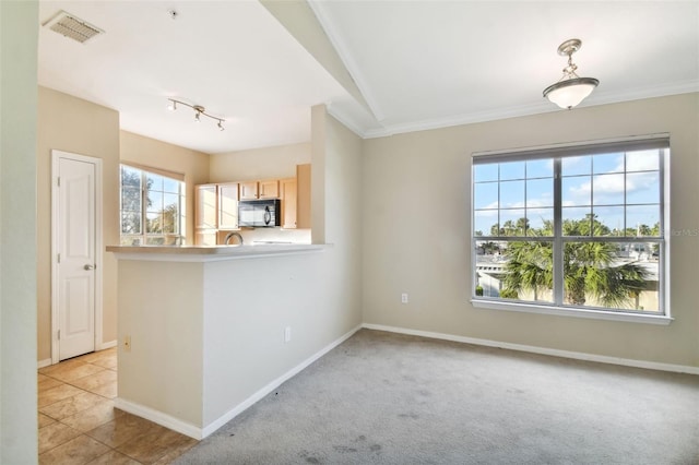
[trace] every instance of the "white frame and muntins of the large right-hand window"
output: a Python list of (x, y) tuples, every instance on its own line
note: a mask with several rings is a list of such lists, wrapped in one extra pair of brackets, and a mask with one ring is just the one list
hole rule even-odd
[[(561, 177), (561, 160), (562, 158), (573, 156), (587, 156), (587, 155), (601, 155), (612, 152), (632, 152), (641, 150), (662, 148), (664, 153), (660, 157), (659, 164), (659, 190), (660, 190), (660, 236), (656, 237), (614, 237), (614, 236), (564, 236), (562, 233), (562, 177)], [(615, 140), (595, 141), (595, 142), (574, 142), (568, 144), (558, 144), (541, 147), (529, 147), (514, 151), (499, 151), (499, 152), (479, 152), (472, 154), (471, 160), (471, 303), (476, 308), (494, 309), (494, 310), (507, 310), (531, 313), (544, 313), (565, 317), (579, 317), (591, 318), (602, 320), (616, 320), (616, 321), (629, 321), (629, 322), (642, 322), (653, 324), (670, 324), (673, 320), (671, 317), (671, 302), (670, 302), (670, 158), (671, 158), (671, 141), (670, 134), (650, 134), (645, 136), (624, 138)], [(475, 167), (477, 165), (493, 164), (493, 163), (506, 163), (506, 162), (529, 162), (536, 159), (547, 159), (554, 162), (553, 169), (553, 194), (554, 194), (554, 235), (547, 237), (528, 236), (528, 231), (523, 234), (525, 236), (501, 236), (501, 225), (498, 220), (498, 236), (483, 235), (476, 236), (476, 204), (475, 204)], [(625, 176), (628, 172), (626, 167), (624, 170)], [(597, 176), (600, 174), (596, 174)], [(595, 176), (591, 171), (591, 179)], [(519, 178), (518, 178), (519, 179)], [(525, 183), (529, 178), (523, 177)], [(497, 183), (502, 182), (498, 178)], [(526, 211), (529, 206), (526, 196), (524, 198), (524, 205), (522, 210)], [(594, 200), (591, 199), (591, 212), (593, 212)], [(626, 200), (626, 190), (624, 206), (629, 205)], [(500, 205), (498, 201), (498, 218), (500, 217)], [(481, 208), (483, 211), (483, 208)], [(525, 215), (526, 216), (526, 215)], [(529, 217), (528, 217), (529, 219)], [(626, 230), (626, 224), (625, 228)], [(489, 231), (490, 234), (493, 231)], [(477, 296), (476, 286), (478, 285), (478, 253), (477, 243), (479, 241), (532, 241), (532, 242), (550, 242), (553, 247), (553, 301), (529, 301), (519, 299), (506, 299), (500, 297), (487, 297)], [(629, 310), (619, 309), (614, 310), (605, 307), (593, 306), (580, 306), (565, 303), (564, 299), (564, 250), (566, 242), (619, 242), (619, 243), (657, 243), (659, 245), (659, 265), (657, 265), (657, 311), (648, 310)]]

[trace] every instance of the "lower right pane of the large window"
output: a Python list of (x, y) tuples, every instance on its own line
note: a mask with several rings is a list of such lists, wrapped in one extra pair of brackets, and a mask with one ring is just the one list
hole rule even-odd
[(657, 262), (639, 263), (628, 245), (567, 242), (564, 247), (564, 303), (657, 311)]

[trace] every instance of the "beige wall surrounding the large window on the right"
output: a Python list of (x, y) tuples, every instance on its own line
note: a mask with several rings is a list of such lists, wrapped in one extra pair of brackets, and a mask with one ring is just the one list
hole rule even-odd
[[(672, 237), (668, 326), (475, 309), (469, 302), (470, 158), (671, 134), (671, 226), (699, 228), (699, 94), (554, 111), (364, 141), (364, 321), (458, 336), (699, 366), (699, 238)], [(400, 302), (408, 293), (410, 303)]]

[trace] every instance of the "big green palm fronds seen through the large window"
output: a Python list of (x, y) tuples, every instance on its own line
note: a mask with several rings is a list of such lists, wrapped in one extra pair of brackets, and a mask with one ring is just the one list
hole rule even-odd
[[(600, 229), (594, 217), (569, 222), (566, 229)], [(542, 236), (550, 236), (540, 231)], [(568, 231), (567, 231), (568, 233)], [(508, 260), (501, 296), (520, 291), (538, 293), (554, 286), (553, 245), (546, 241), (516, 241), (505, 251)], [(615, 265), (616, 246), (611, 242), (566, 242), (564, 245), (564, 291), (566, 301), (582, 306), (588, 297), (606, 307), (623, 308), (643, 290), (647, 271), (637, 263)], [(518, 294), (516, 294), (518, 293)], [(517, 297), (514, 297), (517, 298)]]

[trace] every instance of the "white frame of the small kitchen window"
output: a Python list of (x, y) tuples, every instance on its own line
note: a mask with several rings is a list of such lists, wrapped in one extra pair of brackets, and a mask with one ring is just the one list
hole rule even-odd
[[(133, 170), (133, 171), (138, 171), (140, 175), (140, 226), (141, 226), (141, 233), (139, 234), (125, 234), (123, 233), (123, 214), (125, 214), (125, 210), (123, 210), (123, 177), (122, 177), (122, 170), (123, 168)], [(169, 181), (173, 182), (177, 182), (178, 186), (178, 190), (179, 192), (175, 193), (175, 192), (166, 192), (164, 190), (157, 190), (157, 189), (147, 189), (147, 177), (149, 176), (157, 176), (164, 179), (167, 179)], [(157, 234), (153, 234), (153, 233), (147, 233), (147, 217), (149, 217), (149, 210), (147, 210), (147, 195), (149, 192), (153, 191), (153, 192), (158, 192), (162, 195), (165, 194), (170, 194), (170, 195), (177, 195), (177, 210), (178, 210), (178, 217), (176, 220), (176, 230), (175, 233), (157, 233)], [(133, 245), (133, 246), (175, 246), (175, 245), (183, 245), (185, 240), (186, 240), (186, 184), (183, 181), (183, 176), (179, 175), (179, 174), (170, 174), (168, 171), (164, 171), (162, 169), (157, 169), (157, 168), (149, 168), (149, 167), (144, 167), (144, 166), (140, 166), (140, 165), (132, 165), (132, 164), (128, 164), (128, 163), (121, 163), (119, 164), (119, 242), (122, 246), (129, 246), (129, 245)], [(130, 211), (129, 211), (130, 212)], [(158, 243), (152, 243), (153, 239), (163, 239), (162, 245)], [(174, 240), (174, 243), (165, 243), (167, 242), (167, 239), (170, 238)], [(125, 243), (125, 240), (127, 240), (127, 242), (129, 243)], [(151, 243), (149, 243), (151, 242)]]

